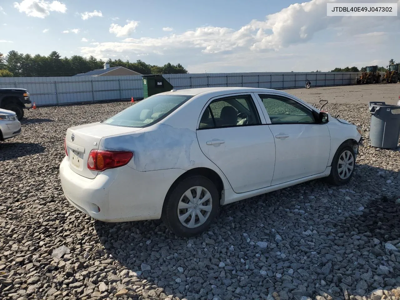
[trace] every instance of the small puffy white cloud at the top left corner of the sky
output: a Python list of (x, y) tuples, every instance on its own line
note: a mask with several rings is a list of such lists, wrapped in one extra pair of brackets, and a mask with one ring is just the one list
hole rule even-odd
[(65, 4), (59, 1), (22, 0), (20, 3), (14, 2), (14, 7), (19, 12), (24, 12), (28, 16), (37, 18), (45, 18), (50, 15), (50, 12), (65, 13), (67, 11)]

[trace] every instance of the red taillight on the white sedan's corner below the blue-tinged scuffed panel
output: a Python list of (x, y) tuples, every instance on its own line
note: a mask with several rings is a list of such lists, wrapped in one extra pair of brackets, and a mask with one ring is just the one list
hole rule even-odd
[(107, 151), (93, 149), (88, 157), (88, 169), (104, 171), (106, 169), (125, 166), (133, 157), (130, 151)]

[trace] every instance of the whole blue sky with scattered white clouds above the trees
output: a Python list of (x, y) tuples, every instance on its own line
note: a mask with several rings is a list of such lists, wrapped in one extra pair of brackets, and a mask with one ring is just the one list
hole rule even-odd
[[(327, 2), (335, 1), (1, 0), (0, 52), (181, 63), (191, 73), (328, 71), (400, 61), (400, 13), (327, 17)], [(362, 2), (400, 7), (400, 0)]]

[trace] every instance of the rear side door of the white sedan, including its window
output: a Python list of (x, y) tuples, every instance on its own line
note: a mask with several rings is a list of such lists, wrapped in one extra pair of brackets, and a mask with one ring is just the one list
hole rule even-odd
[(236, 193), (271, 185), (275, 142), (260, 109), (252, 93), (212, 98), (198, 122), (202, 152)]

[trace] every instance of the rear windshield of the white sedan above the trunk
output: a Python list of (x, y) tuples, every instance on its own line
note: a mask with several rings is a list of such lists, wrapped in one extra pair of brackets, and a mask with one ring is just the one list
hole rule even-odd
[(150, 126), (173, 112), (178, 106), (192, 97), (187, 95), (150, 96), (108, 118), (103, 123), (126, 127)]

